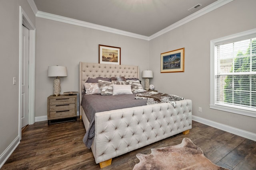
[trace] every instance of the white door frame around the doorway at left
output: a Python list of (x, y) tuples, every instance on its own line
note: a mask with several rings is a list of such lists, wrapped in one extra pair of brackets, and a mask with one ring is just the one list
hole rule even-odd
[(29, 19), (28, 15), (20, 6), (19, 20), (19, 111), (18, 111), (18, 133), (21, 140), (21, 108), (22, 108), (22, 25), (29, 29), (29, 71), (28, 71), (28, 124), (35, 122), (35, 49), (36, 49), (36, 27)]

